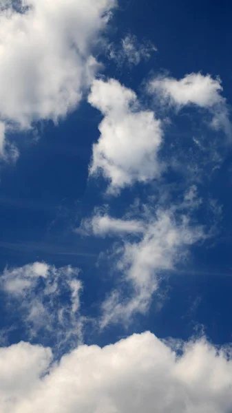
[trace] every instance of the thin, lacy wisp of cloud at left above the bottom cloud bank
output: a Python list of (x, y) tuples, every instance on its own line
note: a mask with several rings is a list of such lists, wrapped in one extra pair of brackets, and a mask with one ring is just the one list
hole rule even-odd
[(14, 313), (17, 308), (30, 337), (43, 340), (49, 335), (54, 346), (62, 348), (82, 339), (79, 310), (83, 286), (78, 274), (78, 268), (72, 266), (56, 268), (34, 262), (5, 268), (0, 288), (7, 295), (9, 310)]

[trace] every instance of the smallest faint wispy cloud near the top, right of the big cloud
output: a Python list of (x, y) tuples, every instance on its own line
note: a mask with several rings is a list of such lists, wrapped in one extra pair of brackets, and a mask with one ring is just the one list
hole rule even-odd
[(156, 47), (150, 41), (139, 43), (136, 36), (127, 34), (121, 40), (120, 47), (116, 47), (114, 44), (109, 45), (109, 59), (116, 61), (119, 66), (123, 63), (136, 66), (143, 60), (149, 60), (151, 54), (156, 51)]

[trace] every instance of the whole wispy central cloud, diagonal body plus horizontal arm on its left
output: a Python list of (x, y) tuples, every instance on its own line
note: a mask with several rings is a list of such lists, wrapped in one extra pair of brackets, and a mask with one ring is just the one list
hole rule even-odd
[(103, 301), (100, 328), (117, 322), (127, 326), (136, 313), (145, 314), (162, 275), (173, 273), (176, 264), (187, 258), (189, 246), (211, 236), (211, 228), (207, 232), (191, 222), (192, 213), (202, 203), (196, 185), (178, 202), (171, 202), (166, 195), (170, 193), (162, 190), (147, 204), (135, 200), (122, 219), (109, 216), (107, 206), (95, 209), (92, 218), (83, 220), (75, 230), (81, 235), (118, 236), (101, 254), (101, 260), (110, 263), (109, 272), (111, 277), (115, 275), (116, 284)]

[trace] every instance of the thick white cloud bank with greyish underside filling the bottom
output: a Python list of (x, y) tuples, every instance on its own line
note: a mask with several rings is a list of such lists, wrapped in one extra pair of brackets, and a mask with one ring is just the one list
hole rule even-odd
[(80, 346), (50, 366), (50, 350), (0, 350), (2, 413), (228, 413), (230, 349), (206, 340), (181, 355), (145, 332), (105, 348)]

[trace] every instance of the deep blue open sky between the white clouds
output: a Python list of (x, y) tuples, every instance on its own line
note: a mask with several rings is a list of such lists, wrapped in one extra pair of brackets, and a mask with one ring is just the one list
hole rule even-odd
[[(152, 74), (168, 72), (181, 78), (191, 72), (210, 73), (220, 76), (223, 96), (232, 105), (231, 17), (229, 1), (121, 1), (106, 36), (119, 43), (131, 32), (138, 41), (154, 43), (158, 52), (132, 70), (116, 68), (99, 52), (105, 63), (103, 74), (131, 87), (143, 100), (143, 81)], [(110, 284), (107, 267), (96, 266), (96, 262), (113, 240), (86, 239), (74, 234), (73, 229), (83, 216), (105, 202), (105, 183), (88, 180), (100, 121), (101, 114), (83, 101), (59, 125), (35, 125), (38, 141), (33, 141), (30, 133), (12, 136), (21, 155), (14, 165), (2, 165), (0, 183), (1, 270), (6, 265), (43, 260), (55, 266), (80, 267), (85, 282), (83, 311), (90, 315), (97, 314), (97, 300)], [(187, 135), (189, 124), (183, 126), (181, 122), (178, 120), (178, 131), (182, 129)], [(189, 262), (162, 283), (167, 295), (162, 308), (157, 310), (156, 299), (149, 315), (138, 317), (128, 330), (109, 327), (101, 334), (87, 335), (87, 342), (107, 343), (147, 329), (158, 337), (187, 339), (201, 325), (213, 342), (231, 341), (231, 159), (228, 146), (220, 169), (200, 186), (205, 196), (211, 195), (222, 205), (218, 233), (215, 239), (191, 248)], [(112, 213), (120, 215), (134, 196), (143, 199), (143, 189), (135, 187), (133, 193), (125, 190), (120, 199), (111, 200)], [(204, 208), (198, 218), (203, 224), (209, 223)], [(100, 279), (102, 285), (96, 288)], [(5, 317), (3, 326), (8, 323)], [(14, 340), (23, 338), (18, 334)]]

